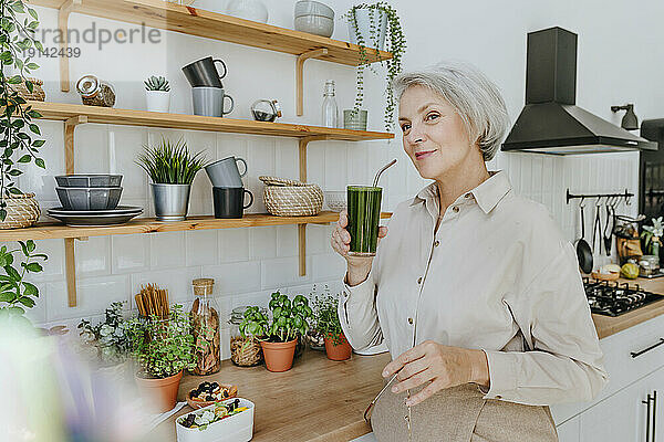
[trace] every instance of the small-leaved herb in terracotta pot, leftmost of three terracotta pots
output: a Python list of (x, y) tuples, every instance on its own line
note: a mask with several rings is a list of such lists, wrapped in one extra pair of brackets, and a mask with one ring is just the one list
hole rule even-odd
[(189, 315), (181, 305), (174, 305), (164, 318), (133, 318), (128, 336), (132, 354), (141, 367), (135, 376), (141, 393), (155, 401), (154, 411), (172, 410), (183, 371), (196, 367)]

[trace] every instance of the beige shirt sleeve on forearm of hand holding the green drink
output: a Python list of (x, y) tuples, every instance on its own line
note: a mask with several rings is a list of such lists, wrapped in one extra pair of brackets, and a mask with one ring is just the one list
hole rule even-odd
[(339, 297), (339, 320), (351, 347), (361, 350), (383, 341), (376, 311), (376, 284), (373, 271), (369, 277), (353, 287), (343, 282)]

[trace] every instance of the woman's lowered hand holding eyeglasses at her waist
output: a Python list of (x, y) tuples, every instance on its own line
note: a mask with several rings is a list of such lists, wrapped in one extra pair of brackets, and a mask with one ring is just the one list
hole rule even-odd
[(489, 387), (489, 365), (483, 350), (448, 347), (426, 340), (401, 354), (385, 366), (383, 377), (398, 371), (392, 392), (398, 393), (428, 383), (413, 396), (407, 406), (415, 406), (436, 392), (463, 383)]

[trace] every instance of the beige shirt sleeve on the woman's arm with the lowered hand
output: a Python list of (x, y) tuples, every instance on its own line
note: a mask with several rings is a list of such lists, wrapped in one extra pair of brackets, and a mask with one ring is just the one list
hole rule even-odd
[(557, 256), (521, 293), (506, 297), (532, 349), (483, 349), (490, 388), (485, 399), (531, 406), (592, 400), (608, 381), (603, 354), (578, 271), (573, 246)]

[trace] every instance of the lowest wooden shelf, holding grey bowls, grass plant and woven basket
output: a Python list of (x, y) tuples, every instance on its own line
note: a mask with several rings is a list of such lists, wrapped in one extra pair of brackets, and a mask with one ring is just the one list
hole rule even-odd
[[(392, 217), (383, 212), (381, 218)], [(76, 239), (133, 233), (163, 233), (191, 230), (257, 228), (289, 224), (324, 224), (336, 222), (339, 213), (323, 211), (314, 217), (274, 217), (267, 213), (246, 214), (240, 219), (216, 219), (214, 217), (187, 217), (186, 221), (160, 222), (154, 218), (137, 218), (126, 224), (106, 227), (68, 227), (61, 223), (39, 223), (32, 228), (0, 230), (0, 241)]]

